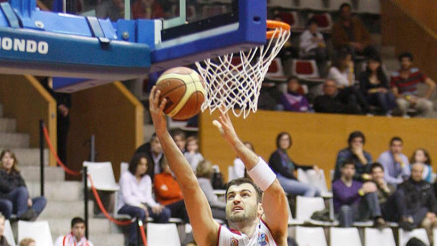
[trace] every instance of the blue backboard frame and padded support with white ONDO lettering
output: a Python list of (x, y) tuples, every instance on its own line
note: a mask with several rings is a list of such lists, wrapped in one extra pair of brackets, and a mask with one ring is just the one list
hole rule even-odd
[(266, 9), (264, 0), (239, 0), (237, 28), (164, 46), (155, 44), (160, 20), (111, 22), (40, 11), (36, 0), (10, 0), (0, 3), (0, 73), (87, 78), (54, 80), (65, 92), (138, 78), (264, 44)]

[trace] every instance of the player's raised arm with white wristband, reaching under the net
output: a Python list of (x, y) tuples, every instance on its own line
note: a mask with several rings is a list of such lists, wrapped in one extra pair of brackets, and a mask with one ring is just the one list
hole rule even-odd
[[(287, 197), (278, 179), (274, 178), (273, 171), (269, 166), (238, 138), (232, 122), (227, 113), (221, 113), (218, 121), (213, 121), (218, 127), (220, 135), (229, 143), (237, 156), (243, 161), (253, 181), (264, 191), (263, 194), (263, 220), (272, 230), (275, 240), (286, 240), (288, 229)], [(265, 176), (259, 176), (264, 169)], [(268, 175), (270, 173), (270, 175)], [(258, 174), (258, 177), (257, 177)], [(255, 176), (254, 176), (255, 175)]]

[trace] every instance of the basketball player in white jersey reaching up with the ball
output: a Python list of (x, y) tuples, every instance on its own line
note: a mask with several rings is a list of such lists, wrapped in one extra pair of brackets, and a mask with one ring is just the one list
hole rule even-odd
[(288, 211), (284, 190), (266, 162), (238, 139), (227, 114), (221, 114), (215, 125), (243, 161), (254, 181), (241, 178), (229, 182), (226, 189), (226, 218), (229, 229), (214, 221), (207, 198), (190, 164), (167, 131), (167, 122), (162, 112), (166, 99), (159, 103), (159, 94), (160, 91), (154, 86), (149, 96), (150, 114), (168, 164), (181, 186), (197, 244), (287, 246)]

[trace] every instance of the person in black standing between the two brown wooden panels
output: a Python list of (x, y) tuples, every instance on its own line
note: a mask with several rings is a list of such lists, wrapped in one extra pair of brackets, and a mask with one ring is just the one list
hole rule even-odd
[(70, 108), (72, 107), (72, 95), (69, 93), (55, 92), (53, 90), (52, 79), (47, 77), (40, 78), (40, 83), (56, 100), (57, 154), (61, 162), (67, 164), (67, 136), (70, 128)]

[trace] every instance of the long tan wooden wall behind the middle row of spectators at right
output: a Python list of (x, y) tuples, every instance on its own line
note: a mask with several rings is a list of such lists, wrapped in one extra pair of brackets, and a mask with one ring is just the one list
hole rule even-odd
[[(204, 157), (218, 164), (226, 174), (235, 155), (211, 123), (217, 115), (201, 115), (200, 147)], [(393, 136), (400, 136), (404, 139), (407, 156), (423, 147), (431, 152), (433, 160), (437, 160), (435, 119), (258, 111), (246, 120), (232, 120), (240, 139), (252, 142), (256, 153), (266, 161), (276, 149), (276, 136), (282, 131), (289, 132), (293, 142), (289, 150), (291, 158), (299, 164), (317, 164), (324, 169), (326, 177), (334, 168), (337, 152), (347, 147), (348, 136), (355, 130), (364, 132), (365, 150), (374, 159), (388, 149)]]

